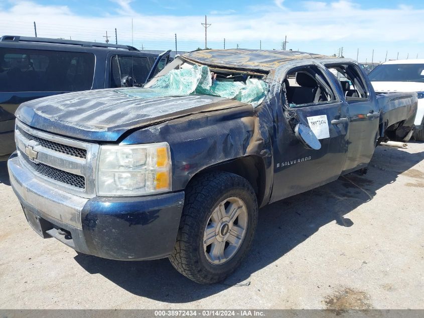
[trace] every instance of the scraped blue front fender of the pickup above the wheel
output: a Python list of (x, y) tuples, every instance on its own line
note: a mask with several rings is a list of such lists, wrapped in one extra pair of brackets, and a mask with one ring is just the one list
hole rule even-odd
[(163, 141), (171, 149), (173, 191), (185, 189), (200, 171), (241, 157), (263, 157), (265, 165), (271, 167), (268, 136), (263, 136), (251, 105), (164, 122), (136, 131), (121, 143)]

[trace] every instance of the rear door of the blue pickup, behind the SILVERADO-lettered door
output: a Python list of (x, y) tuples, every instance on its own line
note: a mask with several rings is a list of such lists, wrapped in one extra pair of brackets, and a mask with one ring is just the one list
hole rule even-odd
[[(370, 82), (365, 78), (358, 65), (343, 62), (326, 65), (336, 70), (344, 88), (349, 105), (349, 149), (343, 173), (366, 167), (374, 154), (378, 139), (379, 107), (374, 94), (369, 91)], [(344, 85), (342, 85), (344, 86)]]

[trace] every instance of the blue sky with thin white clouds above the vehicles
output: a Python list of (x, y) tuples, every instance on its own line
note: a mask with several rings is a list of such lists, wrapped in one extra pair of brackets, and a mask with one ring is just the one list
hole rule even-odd
[[(424, 58), (422, 0), (0, 0), (0, 35), (192, 51), (287, 49), (343, 55), (360, 62)], [(374, 54), (373, 54), (374, 50)]]

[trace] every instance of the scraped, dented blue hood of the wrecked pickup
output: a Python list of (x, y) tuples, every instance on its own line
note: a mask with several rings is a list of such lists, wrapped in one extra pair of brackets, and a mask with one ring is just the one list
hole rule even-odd
[(24, 124), (50, 133), (113, 142), (131, 129), (190, 114), (246, 105), (238, 100), (211, 95), (146, 98), (149, 92), (149, 88), (72, 92), (22, 103), (15, 115)]

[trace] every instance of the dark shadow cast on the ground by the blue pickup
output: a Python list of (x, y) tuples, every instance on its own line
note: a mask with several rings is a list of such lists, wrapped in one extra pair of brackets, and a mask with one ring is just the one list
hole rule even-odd
[[(248, 257), (232, 276), (220, 284), (196, 284), (179, 274), (167, 259), (121, 262), (79, 254), (75, 260), (91, 274), (99, 273), (132, 294), (158, 301), (195, 301), (230, 286), (238, 286), (242, 291), (242, 288), (248, 288), (252, 273), (284, 257), (320, 227), (331, 222), (343, 227), (355, 226), (346, 216), (349, 212), (371, 200), (378, 189), (394, 182), (398, 175), (423, 159), (424, 151), (410, 154), (395, 148), (377, 147), (367, 175), (351, 173), (262, 208)], [(413, 170), (405, 174), (410, 176)], [(417, 178), (422, 178), (422, 172)], [(299, 260), (300, 263), (302, 261)], [(277, 267), (275, 271), (278, 271)]]

